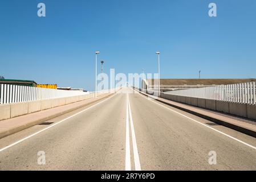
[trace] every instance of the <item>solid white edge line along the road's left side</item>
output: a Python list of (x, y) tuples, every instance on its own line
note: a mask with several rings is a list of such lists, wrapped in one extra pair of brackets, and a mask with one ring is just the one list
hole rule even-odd
[(23, 138), (23, 139), (21, 139), (21, 140), (18, 140), (17, 142), (14, 142), (14, 143), (12, 143), (12, 144), (9, 144), (9, 146), (6, 146), (6, 147), (1, 148), (1, 149), (0, 149), (0, 152), (6, 150), (7, 148), (13, 147), (13, 146), (15, 146), (15, 145), (18, 144), (18, 143), (21, 143), (21, 142), (23, 142), (23, 141), (26, 140), (26, 139), (29, 139), (29, 138), (31, 138), (31, 137), (34, 137), (35, 135), (37, 135), (37, 134), (39, 134), (39, 133), (42, 133), (42, 132), (45, 131), (45, 130), (50, 129), (51, 127), (54, 127), (54, 126), (58, 125), (59, 123), (62, 123), (63, 121), (66, 121), (67, 119), (70, 119), (70, 118), (72, 118), (72, 117), (74, 117), (74, 116), (76, 116), (76, 115), (78, 115), (78, 114), (80, 114), (80, 113), (83, 113), (84, 111), (86, 111), (86, 110), (88, 110), (88, 109), (91, 109), (92, 107), (95, 107), (95, 106), (97, 106), (97, 105), (99, 105), (99, 104), (101, 104), (101, 103), (103, 103), (103, 102), (109, 100), (110, 98), (112, 98), (112, 97), (114, 97), (114, 96), (116, 96), (116, 94), (114, 94), (114, 95), (111, 96), (111, 97), (106, 98), (106, 99), (103, 100), (103, 101), (98, 102), (97, 104), (95, 104), (95, 105), (93, 105), (93, 106), (88, 107), (87, 109), (84, 109), (84, 110), (82, 110), (82, 111), (79, 111), (78, 113), (76, 113), (76, 114), (74, 114), (74, 115), (71, 115), (70, 117), (67, 117), (67, 118), (65, 118), (65, 119), (62, 119), (61, 121), (59, 121), (59, 122), (57, 122), (57, 123), (54, 123), (54, 124), (51, 125), (51, 126), (46, 127), (45, 129), (42, 129), (42, 130), (40, 130), (40, 131), (38, 131), (38, 132), (36, 132), (36, 133), (34, 133), (34, 134), (31, 134), (31, 135), (29, 135), (28, 137), (25, 137), (25, 138)]

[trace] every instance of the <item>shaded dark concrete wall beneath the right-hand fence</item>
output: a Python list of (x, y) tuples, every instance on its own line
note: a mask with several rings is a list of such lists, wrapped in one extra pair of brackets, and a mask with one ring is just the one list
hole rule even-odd
[(174, 96), (161, 93), (161, 98), (180, 102), (187, 105), (198, 106), (205, 109), (220, 111), (226, 114), (237, 115), (248, 119), (256, 120), (256, 105), (241, 104), (236, 102), (226, 102), (217, 100), (208, 100), (204, 98), (194, 98), (185, 96)]

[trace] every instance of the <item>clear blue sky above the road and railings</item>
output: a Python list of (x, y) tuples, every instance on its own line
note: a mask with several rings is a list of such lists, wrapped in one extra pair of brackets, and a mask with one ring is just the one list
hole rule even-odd
[(0, 75), (94, 90), (95, 51), (107, 73), (156, 73), (158, 50), (164, 78), (255, 78), (255, 20), (255, 0), (1, 0)]

